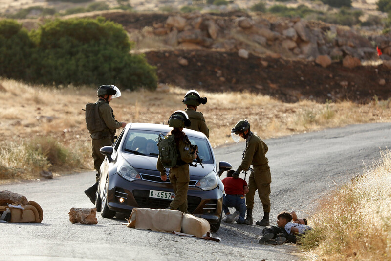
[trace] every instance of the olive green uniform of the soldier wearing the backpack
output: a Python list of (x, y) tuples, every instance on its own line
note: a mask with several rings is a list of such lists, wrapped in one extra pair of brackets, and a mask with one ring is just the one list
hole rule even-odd
[[(185, 164), (170, 168), (169, 179), (175, 193), (175, 197), (170, 203), (170, 207), (174, 210), (179, 208), (180, 211), (187, 212), (187, 190), (189, 189), (190, 182), (189, 163), (195, 160), (196, 156), (190, 154), (190, 142), (188, 142), (187, 138), (179, 141), (178, 150), (180, 159), (182, 160), (182, 163), (185, 162)], [(166, 175), (165, 168), (160, 162), (160, 155), (157, 158), (156, 168), (161, 176)]]

